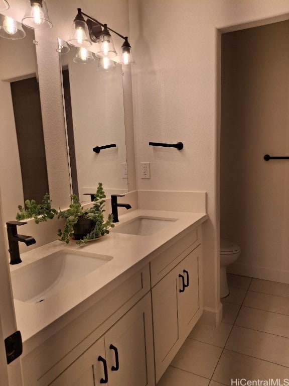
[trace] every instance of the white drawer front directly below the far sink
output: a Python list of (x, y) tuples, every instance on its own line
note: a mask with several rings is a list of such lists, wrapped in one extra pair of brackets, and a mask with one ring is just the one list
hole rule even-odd
[(201, 228), (197, 228), (151, 261), (150, 267), (152, 287), (200, 244)]

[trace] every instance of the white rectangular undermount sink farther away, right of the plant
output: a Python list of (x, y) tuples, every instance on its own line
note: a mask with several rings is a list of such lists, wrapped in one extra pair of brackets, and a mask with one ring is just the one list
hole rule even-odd
[(117, 225), (111, 231), (129, 235), (151, 236), (171, 225), (176, 220), (140, 216), (124, 224)]

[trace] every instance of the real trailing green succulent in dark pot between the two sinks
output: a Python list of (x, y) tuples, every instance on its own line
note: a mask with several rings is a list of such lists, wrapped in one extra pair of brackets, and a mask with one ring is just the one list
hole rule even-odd
[(58, 218), (65, 219), (64, 229), (58, 230), (60, 240), (66, 244), (73, 237), (77, 244), (87, 243), (109, 233), (108, 228), (113, 228), (112, 214), (108, 215), (107, 221), (103, 219), (105, 206), (105, 193), (102, 183), (98, 183), (95, 199), (90, 208), (84, 208), (76, 195), (72, 195), (72, 204), (65, 211), (60, 211)]

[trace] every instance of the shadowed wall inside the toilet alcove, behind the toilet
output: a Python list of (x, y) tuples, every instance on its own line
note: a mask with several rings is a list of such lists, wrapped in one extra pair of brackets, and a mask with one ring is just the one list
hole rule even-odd
[(221, 237), (234, 273), (289, 282), (289, 21), (223, 35)]

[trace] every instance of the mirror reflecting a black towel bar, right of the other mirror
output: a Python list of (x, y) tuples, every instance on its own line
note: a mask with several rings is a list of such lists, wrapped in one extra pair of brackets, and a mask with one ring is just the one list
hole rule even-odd
[(90, 201), (98, 182), (107, 197), (127, 192), (121, 66), (105, 71), (94, 54), (84, 64), (76, 47), (62, 52), (72, 192)]

